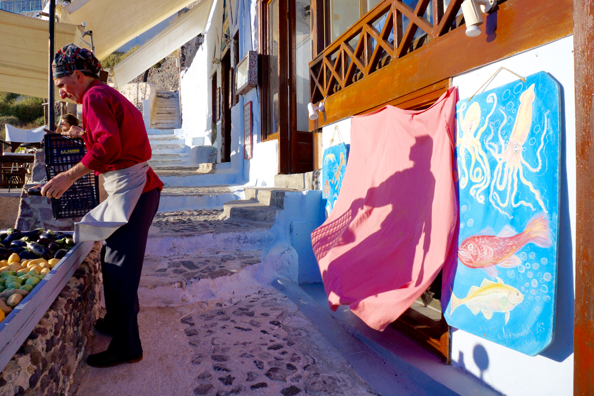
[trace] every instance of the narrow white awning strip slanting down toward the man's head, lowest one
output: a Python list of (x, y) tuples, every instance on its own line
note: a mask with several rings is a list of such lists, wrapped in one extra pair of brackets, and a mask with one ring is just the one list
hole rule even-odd
[(204, 33), (214, 0), (202, 0), (174, 23), (163, 29), (140, 49), (113, 68), (113, 83), (121, 87), (168, 56), (193, 37)]

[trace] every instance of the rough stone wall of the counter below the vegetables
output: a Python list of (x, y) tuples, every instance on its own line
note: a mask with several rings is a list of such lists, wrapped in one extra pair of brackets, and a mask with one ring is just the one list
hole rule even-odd
[(65, 396), (101, 308), (100, 243), (0, 373), (0, 396)]

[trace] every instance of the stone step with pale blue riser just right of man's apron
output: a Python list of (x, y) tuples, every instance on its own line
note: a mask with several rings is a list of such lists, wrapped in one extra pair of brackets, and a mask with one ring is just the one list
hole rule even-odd
[(228, 201), (242, 198), (241, 192), (235, 194), (229, 186), (163, 186), (159, 201), (159, 212), (178, 210), (222, 209)]

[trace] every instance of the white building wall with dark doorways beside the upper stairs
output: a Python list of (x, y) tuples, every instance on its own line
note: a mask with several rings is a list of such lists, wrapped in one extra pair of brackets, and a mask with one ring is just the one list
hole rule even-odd
[[(230, 34), (239, 31), (239, 59), (248, 50), (257, 50), (256, 0), (235, 0), (230, 2), (232, 23)], [(210, 26), (207, 27), (204, 44), (198, 50), (192, 65), (181, 74), (182, 135), (186, 144), (192, 145), (192, 138), (204, 138), (204, 145), (211, 145), (211, 75), (217, 72), (220, 86), (221, 66), (211, 59), (220, 59), (220, 37), (223, 17), (223, 1), (217, 1)], [(233, 46), (230, 51), (234, 58)], [(252, 102), (252, 159), (244, 159), (244, 104)], [(217, 122), (217, 147), (220, 160), (221, 121)], [(225, 172), (237, 174), (236, 184), (245, 186), (272, 186), (278, 172), (278, 141), (262, 142), (260, 138), (260, 88), (255, 87), (239, 96), (239, 102), (231, 109), (231, 162)], [(224, 168), (222, 168), (224, 169)]]

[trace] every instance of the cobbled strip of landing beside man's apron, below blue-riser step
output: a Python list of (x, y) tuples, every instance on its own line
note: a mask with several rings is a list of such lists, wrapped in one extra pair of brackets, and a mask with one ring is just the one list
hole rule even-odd
[[(157, 213), (149, 231), (153, 236), (183, 236), (208, 232), (245, 232), (258, 227), (219, 220), (222, 210), (184, 210)], [(261, 228), (259, 228), (261, 229)]]

